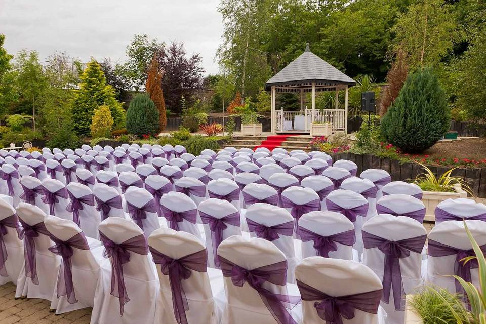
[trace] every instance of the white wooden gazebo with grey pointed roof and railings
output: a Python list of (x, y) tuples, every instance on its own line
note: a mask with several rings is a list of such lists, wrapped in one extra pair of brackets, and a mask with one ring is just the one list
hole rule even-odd
[[(324, 61), (309, 49), (292, 61), (265, 83), (265, 90), (271, 93), (272, 134), (310, 133), (312, 123), (331, 123), (332, 132), (346, 132), (348, 124), (348, 88), (356, 82)], [(344, 109), (338, 109), (338, 94), (346, 90)], [(315, 109), (315, 93), (333, 91), (336, 93), (335, 109)], [(304, 94), (312, 92), (312, 108), (304, 107)], [(300, 111), (285, 111), (275, 108), (276, 93), (300, 94)]]

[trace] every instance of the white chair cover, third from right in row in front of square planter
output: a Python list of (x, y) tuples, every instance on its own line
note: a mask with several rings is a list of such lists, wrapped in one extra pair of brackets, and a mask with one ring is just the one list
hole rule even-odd
[[(331, 208), (331, 206), (334, 207)], [(338, 189), (332, 191), (326, 197), (326, 209), (343, 214), (353, 223), (354, 232), (356, 233), (356, 243), (353, 247), (358, 251), (358, 256), (361, 260), (363, 252), (361, 228), (366, 221), (368, 200), (354, 191)]]

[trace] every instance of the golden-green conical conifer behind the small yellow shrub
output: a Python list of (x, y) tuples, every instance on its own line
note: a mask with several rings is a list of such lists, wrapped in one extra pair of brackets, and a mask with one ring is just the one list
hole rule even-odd
[(105, 76), (100, 65), (92, 59), (81, 75), (79, 90), (75, 91), (72, 106), (73, 128), (79, 136), (90, 134), (91, 119), (94, 110), (106, 105), (110, 108), (115, 125), (123, 123), (125, 111), (115, 99), (115, 92), (106, 85)]

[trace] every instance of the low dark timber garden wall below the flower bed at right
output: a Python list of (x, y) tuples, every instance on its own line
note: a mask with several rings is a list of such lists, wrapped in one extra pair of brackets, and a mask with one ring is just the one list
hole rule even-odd
[[(414, 162), (400, 164), (398, 160), (391, 158), (380, 158), (373, 154), (354, 154), (354, 153), (330, 153), (333, 161), (346, 159), (353, 161), (358, 167), (357, 174), (367, 169), (382, 169), (387, 171), (392, 181), (407, 181), (414, 179), (417, 175), (424, 172), (422, 166)], [(427, 166), (436, 176), (442, 175), (451, 167)], [(471, 187), (475, 196), (486, 198), (486, 168), (457, 168), (452, 172), (452, 176), (461, 177)]]

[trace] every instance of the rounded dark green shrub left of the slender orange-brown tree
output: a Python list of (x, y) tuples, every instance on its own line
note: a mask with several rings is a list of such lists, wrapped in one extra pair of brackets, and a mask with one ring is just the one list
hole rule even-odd
[(127, 131), (130, 134), (155, 135), (159, 129), (158, 110), (147, 94), (135, 96), (127, 110)]

